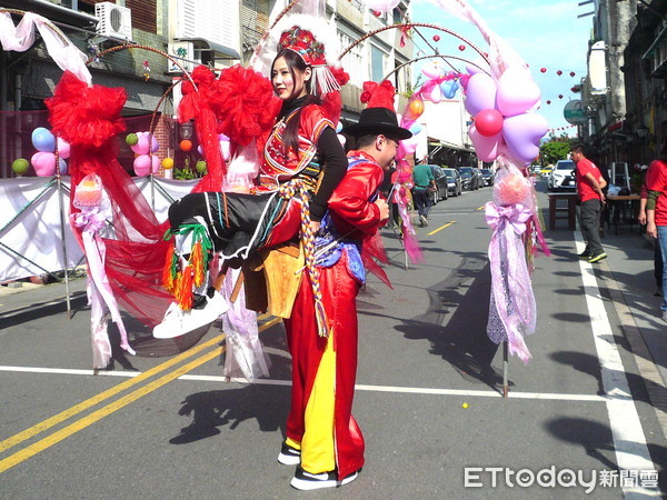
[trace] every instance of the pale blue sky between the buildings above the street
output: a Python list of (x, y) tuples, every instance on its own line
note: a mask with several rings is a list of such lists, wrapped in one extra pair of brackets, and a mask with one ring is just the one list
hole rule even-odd
[[(452, 0), (454, 1), (454, 0)], [(580, 0), (468, 0), (468, 3), (479, 13), (488, 28), (509, 43), (515, 51), (528, 63), (535, 82), (541, 91), (541, 107), (537, 111), (542, 114), (550, 129), (557, 136), (566, 133), (576, 136), (576, 127), (565, 121), (563, 108), (569, 100), (580, 99), (580, 93), (573, 93), (574, 84), (580, 83), (586, 74), (586, 52), (593, 29), (593, 17), (577, 18), (578, 14), (590, 12), (594, 7), (579, 7)], [(437, 7), (430, 0), (412, 0), (412, 22), (428, 22), (450, 29), (468, 39), (481, 51), (487, 51), (479, 29)], [(424, 37), (442, 54), (465, 57), (471, 60), (476, 53), (467, 48), (459, 50), (461, 41), (450, 34), (432, 29), (419, 28)], [(440, 34), (435, 42), (434, 34)], [(426, 54), (431, 54), (419, 37), (412, 37), (417, 48)], [(457, 62), (459, 68), (462, 63)], [(456, 66), (455, 64), (455, 66)], [(419, 73), (415, 64), (415, 73)], [(540, 72), (546, 68), (546, 72)], [(557, 71), (563, 71), (561, 76)], [(570, 77), (570, 72), (575, 77)], [(424, 82), (424, 79), (421, 80)], [(563, 96), (563, 98), (559, 98)], [(550, 101), (550, 103), (547, 103)]]

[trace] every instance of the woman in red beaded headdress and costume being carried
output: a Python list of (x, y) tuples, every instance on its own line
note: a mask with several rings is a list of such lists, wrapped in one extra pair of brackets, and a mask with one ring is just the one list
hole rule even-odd
[(323, 106), (340, 86), (327, 66), (325, 47), (298, 26), (282, 32), (271, 66), (271, 83), (282, 100), (263, 149), (258, 183), (248, 193), (200, 192), (175, 202), (169, 222), (175, 252), (165, 286), (177, 302), (153, 329), (157, 338), (182, 334), (213, 321), (227, 309), (208, 286), (212, 251), (247, 259), (261, 248), (299, 233), (312, 239), (327, 200), (347, 170), (332, 114)]

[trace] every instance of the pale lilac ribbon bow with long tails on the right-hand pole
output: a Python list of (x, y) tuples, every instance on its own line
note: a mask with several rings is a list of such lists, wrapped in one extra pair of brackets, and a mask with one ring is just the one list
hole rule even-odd
[(524, 363), (531, 357), (524, 336), (535, 332), (537, 317), (521, 241), (531, 217), (530, 208), (519, 203), (486, 204), (486, 223), (494, 229), (489, 243), (491, 304), (487, 334), (496, 343), (507, 340), (509, 352)]

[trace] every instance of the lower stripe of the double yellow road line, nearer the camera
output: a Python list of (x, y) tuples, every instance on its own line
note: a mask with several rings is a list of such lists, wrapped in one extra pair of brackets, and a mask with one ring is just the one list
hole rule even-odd
[(47, 436), (43, 439), (40, 439), (33, 444), (30, 444), (27, 448), (23, 448), (21, 451), (17, 451), (14, 454), (7, 457), (3, 460), (0, 460), (0, 473), (4, 472), (8, 469), (21, 463), (24, 460), (36, 456), (37, 453), (46, 450), (47, 448), (52, 447), (53, 444), (58, 444), (66, 438), (69, 438), (74, 432), (79, 432), (82, 429), (86, 429), (88, 426), (97, 422), (98, 420), (103, 419), (104, 417), (113, 413), (117, 410), (120, 410), (123, 407), (127, 407), (129, 403), (142, 398), (149, 392), (155, 391), (156, 389), (161, 388), (162, 386), (171, 382), (172, 380), (179, 378), (180, 376), (193, 370), (195, 368), (210, 361), (211, 359), (219, 357), (225, 351), (223, 348), (213, 349), (211, 352), (208, 352), (195, 361), (190, 361), (188, 364), (183, 364), (182, 367), (176, 369), (171, 373), (168, 373), (163, 377), (160, 377), (157, 380), (143, 386), (142, 388), (137, 389), (133, 392), (130, 392), (127, 396), (113, 401), (112, 403), (107, 404), (99, 410), (93, 411), (92, 413), (83, 417), (80, 420), (77, 420), (73, 423), (60, 429), (59, 431), (53, 432), (50, 436)]

